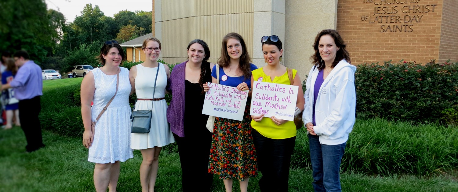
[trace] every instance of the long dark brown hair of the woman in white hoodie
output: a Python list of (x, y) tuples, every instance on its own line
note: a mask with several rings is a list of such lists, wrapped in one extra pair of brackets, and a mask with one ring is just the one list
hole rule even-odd
[(316, 65), (316, 67), (320, 70), (326, 67), (324, 62), (322, 62), (320, 51), (318, 50), (318, 44), (320, 42), (320, 38), (323, 35), (329, 35), (333, 37), (334, 43), (336, 43), (336, 46), (339, 48), (339, 50), (337, 50), (337, 53), (336, 53), (336, 58), (334, 59), (334, 62), (331, 65), (331, 67), (334, 68), (339, 63), (339, 61), (341, 61), (342, 59), (345, 59), (345, 61), (347, 61), (348, 63), (351, 63), (350, 54), (348, 53), (346, 49), (347, 45), (345, 44), (344, 39), (342, 39), (339, 33), (333, 29), (325, 29), (319, 32), (318, 35), (316, 35), (315, 43), (313, 43), (313, 49), (315, 50), (315, 53), (313, 53), (313, 55), (310, 57), (310, 61), (314, 65)]

